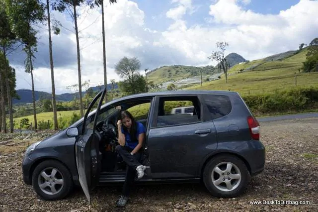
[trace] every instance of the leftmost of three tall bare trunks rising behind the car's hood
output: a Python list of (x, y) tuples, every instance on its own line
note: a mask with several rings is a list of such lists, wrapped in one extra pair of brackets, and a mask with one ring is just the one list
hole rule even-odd
[(51, 82), (52, 82), (52, 106), (53, 106), (53, 119), (54, 129), (58, 130), (58, 116), (56, 111), (56, 100), (55, 100), (55, 82), (54, 82), (54, 69), (53, 69), (53, 54), (52, 54), (52, 38), (51, 38), (51, 20), (50, 20), (50, 5), (49, 0), (46, 0), (47, 11), (48, 11), (48, 25), (49, 25), (49, 50), (50, 50), (50, 67), (51, 67)]

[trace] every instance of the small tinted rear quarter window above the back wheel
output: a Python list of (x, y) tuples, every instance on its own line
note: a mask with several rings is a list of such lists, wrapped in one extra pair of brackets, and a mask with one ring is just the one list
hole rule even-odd
[(230, 98), (223, 95), (203, 95), (204, 102), (208, 107), (212, 119), (229, 114), (232, 110)]

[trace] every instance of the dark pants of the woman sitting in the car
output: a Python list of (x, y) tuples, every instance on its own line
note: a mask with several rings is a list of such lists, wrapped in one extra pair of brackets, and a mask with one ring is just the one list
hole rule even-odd
[(116, 146), (116, 151), (123, 158), (127, 164), (126, 169), (126, 179), (123, 187), (122, 195), (128, 197), (130, 193), (130, 188), (135, 181), (136, 177), (136, 168), (141, 165), (139, 162), (141, 159), (141, 151), (138, 151), (134, 155), (131, 155), (130, 152), (133, 151), (132, 148), (127, 146)]

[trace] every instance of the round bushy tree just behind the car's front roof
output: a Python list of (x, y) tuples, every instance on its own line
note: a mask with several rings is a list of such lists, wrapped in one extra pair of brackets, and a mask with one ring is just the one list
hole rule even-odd
[(118, 83), (119, 90), (127, 95), (146, 92), (146, 80), (138, 71), (140, 60), (123, 57), (116, 65), (116, 73), (124, 80)]

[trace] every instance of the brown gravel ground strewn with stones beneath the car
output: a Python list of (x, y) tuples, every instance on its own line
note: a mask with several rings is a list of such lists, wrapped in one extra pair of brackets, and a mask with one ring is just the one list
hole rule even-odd
[[(97, 188), (91, 205), (80, 188), (65, 200), (43, 201), (22, 181), (24, 151), (2, 154), (0, 211), (318, 211), (318, 118), (263, 122), (261, 140), (266, 168), (251, 178), (240, 197), (211, 197), (201, 184), (137, 186), (125, 209), (115, 207), (121, 187)], [(282, 200), (291, 204), (250, 204)], [(300, 205), (300, 201), (310, 204)]]

